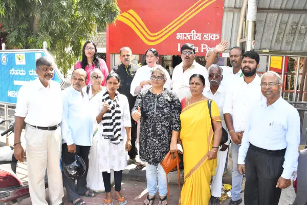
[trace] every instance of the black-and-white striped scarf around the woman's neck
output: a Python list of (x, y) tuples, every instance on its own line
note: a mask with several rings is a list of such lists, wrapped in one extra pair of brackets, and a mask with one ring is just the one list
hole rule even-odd
[(110, 110), (104, 113), (102, 117), (103, 132), (102, 137), (104, 139), (110, 139), (111, 143), (118, 145), (123, 140), (121, 136), (121, 114), (119, 107), (119, 92), (116, 91), (115, 98), (112, 102), (111, 97), (106, 91), (102, 96), (102, 101), (105, 100), (110, 106)]

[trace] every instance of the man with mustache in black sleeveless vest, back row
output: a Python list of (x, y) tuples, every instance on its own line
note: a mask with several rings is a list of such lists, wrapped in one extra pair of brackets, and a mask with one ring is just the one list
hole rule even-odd
[[(115, 72), (119, 75), (121, 84), (118, 88), (118, 92), (128, 98), (129, 109), (132, 109), (136, 102), (137, 96), (134, 97), (130, 94), (130, 85), (140, 66), (131, 63), (133, 54), (129, 47), (123, 47), (119, 50), (119, 58), (121, 64), (113, 68), (111, 72)], [(131, 117), (131, 150), (128, 151), (129, 162), (140, 165), (140, 160), (138, 160), (138, 157), (136, 157), (138, 155), (138, 149), (136, 146), (137, 128), (138, 126), (136, 122)]]

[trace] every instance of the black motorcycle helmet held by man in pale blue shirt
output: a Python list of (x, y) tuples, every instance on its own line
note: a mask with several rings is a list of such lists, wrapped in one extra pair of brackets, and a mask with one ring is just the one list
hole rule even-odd
[(65, 163), (62, 162), (62, 165), (65, 176), (67, 176), (70, 179), (79, 179), (85, 173), (86, 169), (85, 162), (77, 154), (75, 157), (75, 161), (73, 161), (69, 165), (65, 165)]

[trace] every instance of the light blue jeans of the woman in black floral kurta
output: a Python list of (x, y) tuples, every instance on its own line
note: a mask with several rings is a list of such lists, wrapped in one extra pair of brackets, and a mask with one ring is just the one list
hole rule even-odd
[(161, 167), (160, 163), (158, 166), (149, 165), (146, 162), (146, 180), (147, 180), (147, 190), (149, 196), (156, 196), (157, 193), (157, 167), (158, 167), (158, 186), (159, 186), (159, 195), (167, 195), (167, 181), (166, 173)]

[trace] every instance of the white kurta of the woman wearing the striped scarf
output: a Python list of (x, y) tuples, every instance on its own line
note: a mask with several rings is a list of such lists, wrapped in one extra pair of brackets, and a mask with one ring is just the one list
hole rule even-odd
[[(103, 126), (102, 123), (98, 127), (98, 153), (99, 153), (99, 169), (101, 172), (108, 172), (110, 170), (120, 171), (124, 170), (127, 166), (127, 156), (126, 152), (126, 140), (127, 133), (125, 127), (131, 127), (130, 120), (130, 109), (128, 99), (125, 95), (119, 95), (119, 106), (121, 112), (121, 135), (124, 140), (120, 141), (118, 145), (111, 143), (110, 139), (104, 139), (102, 137)], [(103, 103), (99, 106), (99, 112), (103, 108)], [(98, 112), (97, 112), (98, 113)]]

